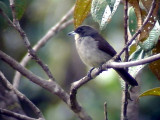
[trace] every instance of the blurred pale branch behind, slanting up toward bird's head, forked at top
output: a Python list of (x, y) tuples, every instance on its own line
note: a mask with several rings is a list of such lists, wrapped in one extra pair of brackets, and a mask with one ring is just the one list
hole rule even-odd
[[(41, 47), (43, 47), (53, 36), (56, 35), (57, 32), (63, 30), (68, 25), (73, 23), (73, 19), (67, 20), (73, 13), (74, 6), (61, 18), (61, 20), (54, 25), (51, 29), (48, 30), (48, 32), (34, 45), (33, 50), (37, 52)], [(24, 58), (21, 60), (20, 64), (22, 66), (26, 66), (26, 64), (31, 59), (31, 56), (27, 53)], [(13, 79), (13, 86), (18, 88), (19, 81), (21, 78), (21, 74), (19, 72), (16, 72)]]

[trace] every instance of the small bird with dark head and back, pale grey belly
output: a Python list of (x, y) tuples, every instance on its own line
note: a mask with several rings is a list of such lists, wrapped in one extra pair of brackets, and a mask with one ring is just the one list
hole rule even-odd
[[(82, 62), (93, 67), (93, 69), (100, 68), (117, 53), (100, 33), (91, 26), (79, 26), (68, 35), (74, 36), (76, 49)], [(114, 70), (129, 85), (138, 86), (137, 81), (124, 68), (114, 68)]]

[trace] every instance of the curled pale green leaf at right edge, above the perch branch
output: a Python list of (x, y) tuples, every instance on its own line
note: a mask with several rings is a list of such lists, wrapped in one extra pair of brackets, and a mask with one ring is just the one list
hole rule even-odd
[(144, 51), (151, 51), (157, 44), (160, 36), (160, 25), (156, 22), (154, 28), (149, 33), (149, 37), (144, 42), (139, 42), (139, 45)]

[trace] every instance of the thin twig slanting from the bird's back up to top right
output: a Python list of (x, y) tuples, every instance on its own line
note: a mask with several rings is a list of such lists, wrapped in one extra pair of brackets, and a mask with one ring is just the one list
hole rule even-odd
[(116, 58), (119, 58), (119, 57), (122, 55), (122, 53), (125, 51), (125, 49), (127, 49), (128, 46), (131, 45), (131, 43), (133, 42), (133, 40), (135, 40), (136, 37), (142, 32), (144, 26), (148, 23), (150, 17), (152, 16), (152, 13), (153, 13), (153, 10), (154, 10), (154, 8), (155, 8), (155, 5), (156, 5), (156, 0), (153, 0), (153, 1), (152, 1), (151, 8), (150, 8), (150, 10), (149, 10), (149, 12), (148, 12), (148, 15), (147, 15), (145, 21), (143, 22), (143, 25), (137, 30), (137, 32), (133, 35), (133, 37), (131, 38), (131, 40), (129, 40), (129, 41), (127, 42), (127, 44), (126, 44), (125, 47), (121, 50), (121, 52), (116, 55)]

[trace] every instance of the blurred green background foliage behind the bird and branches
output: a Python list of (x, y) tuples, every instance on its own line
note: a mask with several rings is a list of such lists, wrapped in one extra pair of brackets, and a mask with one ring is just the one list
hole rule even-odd
[[(9, 9), (8, 1), (1, 1)], [(74, 3), (74, 0), (27, 0), (26, 10), (20, 20), (20, 24), (29, 37), (31, 44), (34, 45), (44, 36), (47, 30), (55, 25)], [(11, 17), (10, 10), (8, 11), (7, 14)], [(101, 32), (116, 51), (123, 47), (122, 13), (123, 7), (120, 6), (112, 21), (107, 25), (106, 30)], [(94, 27), (98, 26), (91, 17), (88, 17), (84, 24)], [(80, 79), (87, 73), (87, 69), (79, 60), (75, 51), (73, 38), (67, 36), (67, 33), (72, 30), (73, 25), (70, 25), (62, 32), (57, 33), (38, 51), (38, 56), (48, 64), (57, 82), (67, 91), (73, 81)], [(1, 16), (0, 49), (17, 61), (20, 61), (27, 51), (19, 34), (12, 27), (8, 26)], [(36, 75), (47, 79), (43, 70), (34, 60), (28, 63), (27, 68)], [(12, 82), (15, 71), (2, 61), (0, 61), (0, 70)], [(143, 80), (141, 91), (159, 86), (159, 82), (147, 67), (140, 76)], [(78, 120), (74, 113), (57, 96), (51, 95), (24, 77), (21, 78), (20, 91), (42, 110), (47, 120)], [(111, 70), (107, 73), (104, 72), (82, 87), (78, 92), (78, 101), (93, 116), (94, 120), (104, 119), (103, 104), (106, 101), (109, 120), (119, 120), (121, 91), (118, 76)], [(140, 119), (160, 119), (159, 99), (159, 97), (140, 99)]]

